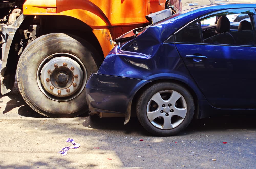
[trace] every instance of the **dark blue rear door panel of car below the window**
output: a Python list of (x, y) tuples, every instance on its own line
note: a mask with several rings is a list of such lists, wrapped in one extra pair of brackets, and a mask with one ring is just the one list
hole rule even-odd
[[(205, 44), (176, 46), (212, 106), (256, 108), (256, 47)], [(207, 58), (201, 62), (185, 58), (195, 53)]]

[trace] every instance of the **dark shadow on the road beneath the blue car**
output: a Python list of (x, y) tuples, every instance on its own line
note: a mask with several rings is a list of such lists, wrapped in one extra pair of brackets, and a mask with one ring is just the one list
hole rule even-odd
[[(256, 116), (216, 116), (194, 120), (179, 135), (191, 134), (194, 132), (224, 131), (227, 129), (256, 129)], [(139, 132), (142, 135), (150, 135), (140, 124), (136, 117), (131, 118), (128, 124), (124, 125), (124, 118), (99, 118), (90, 119), (83, 122), (83, 126), (88, 125), (100, 130), (124, 130), (127, 134)], [(255, 131), (256, 132), (256, 131)]]

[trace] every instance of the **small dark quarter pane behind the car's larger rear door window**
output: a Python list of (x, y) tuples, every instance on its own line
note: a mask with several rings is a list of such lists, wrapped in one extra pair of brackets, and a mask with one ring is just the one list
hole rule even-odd
[(201, 43), (198, 21), (190, 23), (175, 33), (175, 42)]

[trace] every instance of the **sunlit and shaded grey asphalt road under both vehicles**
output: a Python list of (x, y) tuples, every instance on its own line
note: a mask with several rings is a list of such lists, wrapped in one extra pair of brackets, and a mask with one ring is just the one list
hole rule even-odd
[[(127, 125), (124, 118), (92, 121), (86, 114), (46, 118), (26, 105), (17, 83), (12, 92), (0, 96), (0, 112), (0, 168), (255, 168), (256, 164), (255, 116), (196, 120), (177, 136), (155, 137), (136, 118)], [(81, 147), (62, 156), (57, 152), (72, 146), (67, 138)]]

